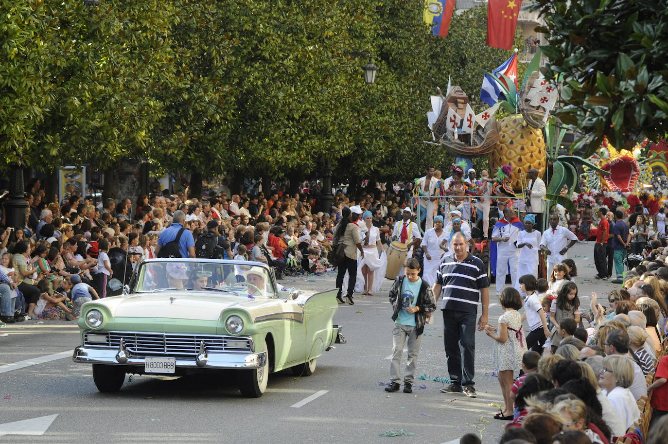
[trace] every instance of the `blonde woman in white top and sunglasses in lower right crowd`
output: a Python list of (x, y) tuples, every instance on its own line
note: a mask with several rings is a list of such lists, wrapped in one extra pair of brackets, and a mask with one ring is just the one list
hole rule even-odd
[(626, 356), (613, 354), (603, 358), (599, 386), (615, 407), (624, 429), (640, 418), (635, 397), (629, 390), (633, 383), (633, 365)]

